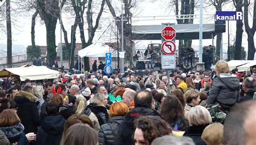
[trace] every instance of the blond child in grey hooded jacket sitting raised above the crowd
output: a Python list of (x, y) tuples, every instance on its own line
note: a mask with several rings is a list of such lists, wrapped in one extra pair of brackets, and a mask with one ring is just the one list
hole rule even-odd
[(224, 111), (229, 111), (240, 99), (239, 79), (231, 75), (227, 61), (220, 60), (215, 65), (217, 75), (213, 79), (211, 90), (206, 102), (217, 102)]

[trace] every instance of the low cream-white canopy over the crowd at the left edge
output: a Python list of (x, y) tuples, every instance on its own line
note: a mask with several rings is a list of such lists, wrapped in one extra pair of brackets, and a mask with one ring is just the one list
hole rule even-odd
[(59, 77), (58, 71), (51, 70), (46, 66), (5, 68), (4, 70), (0, 71), (0, 77), (2, 78), (8, 77), (9, 74), (19, 75), (21, 81), (24, 81), (25, 79), (30, 79), (30, 80), (55, 79)]

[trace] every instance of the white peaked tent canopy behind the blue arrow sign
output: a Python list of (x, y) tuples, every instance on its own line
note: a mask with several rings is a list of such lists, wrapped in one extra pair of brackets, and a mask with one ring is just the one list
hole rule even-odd
[[(105, 53), (113, 53), (114, 50), (107, 45), (101, 45), (98, 43), (93, 43), (82, 50), (78, 51), (79, 57), (105, 57)], [(117, 57), (112, 54), (112, 57)]]

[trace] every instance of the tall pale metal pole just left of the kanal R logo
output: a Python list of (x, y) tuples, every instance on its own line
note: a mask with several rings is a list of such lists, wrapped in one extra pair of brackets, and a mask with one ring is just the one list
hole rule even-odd
[(199, 63), (203, 62), (203, 0), (200, 0), (200, 24), (199, 24)]

